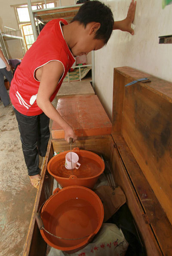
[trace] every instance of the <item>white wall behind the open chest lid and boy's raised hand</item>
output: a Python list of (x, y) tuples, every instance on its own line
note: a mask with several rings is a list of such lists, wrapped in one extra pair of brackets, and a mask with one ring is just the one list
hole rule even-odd
[[(105, 0), (114, 20), (126, 17), (131, 0)], [(172, 34), (172, 5), (162, 0), (137, 0), (135, 35), (113, 31), (106, 47), (95, 52), (95, 91), (112, 116), (114, 67), (130, 66), (172, 82), (172, 44), (159, 44), (159, 36)]]

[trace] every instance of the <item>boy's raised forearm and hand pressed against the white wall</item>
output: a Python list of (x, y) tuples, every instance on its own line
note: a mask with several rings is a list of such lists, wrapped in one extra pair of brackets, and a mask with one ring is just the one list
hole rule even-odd
[(132, 35), (134, 34), (134, 30), (131, 28), (131, 25), (135, 17), (135, 7), (136, 1), (134, 2), (134, 0), (132, 0), (129, 6), (126, 19), (114, 22), (113, 30), (120, 29), (121, 31), (129, 32)]

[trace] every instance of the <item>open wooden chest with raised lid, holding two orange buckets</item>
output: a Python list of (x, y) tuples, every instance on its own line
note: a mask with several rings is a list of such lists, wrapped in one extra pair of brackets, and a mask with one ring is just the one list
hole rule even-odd
[[(151, 82), (125, 86), (139, 78)], [(94, 111), (94, 109), (92, 109)], [(80, 136), (80, 149), (102, 154), (125, 195), (148, 256), (172, 255), (172, 84), (129, 67), (114, 69), (112, 134)], [(45, 256), (35, 214), (52, 194), (47, 163), (69, 150), (52, 139), (42, 169), (24, 256)]]

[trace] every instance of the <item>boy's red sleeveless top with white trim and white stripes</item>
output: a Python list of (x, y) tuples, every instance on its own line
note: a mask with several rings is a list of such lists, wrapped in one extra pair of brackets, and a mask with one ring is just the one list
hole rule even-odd
[[(61, 23), (68, 25), (68, 22), (64, 19), (54, 19), (46, 24), (37, 37), (37, 41), (27, 51), (21, 64), (15, 71), (9, 95), (15, 109), (25, 116), (36, 116), (43, 112), (36, 103), (40, 85), (40, 81), (37, 81), (34, 77), (36, 69), (52, 60), (58, 60), (63, 64), (64, 73), (50, 97), (50, 101), (52, 101), (68, 70), (75, 61), (64, 40)], [(51, 76), (51, 73), (49, 76)]]

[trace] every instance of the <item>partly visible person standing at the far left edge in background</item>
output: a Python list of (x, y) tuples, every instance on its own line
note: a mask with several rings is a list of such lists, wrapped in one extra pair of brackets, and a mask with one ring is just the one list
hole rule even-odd
[(5, 87), (4, 76), (9, 81), (9, 83), (11, 83), (11, 67), (9, 66), (7, 59), (3, 55), (2, 50), (0, 50), (0, 99), (2, 100), (4, 107), (6, 107), (10, 105), (10, 99)]

